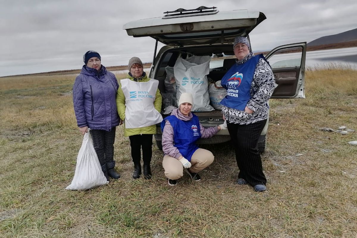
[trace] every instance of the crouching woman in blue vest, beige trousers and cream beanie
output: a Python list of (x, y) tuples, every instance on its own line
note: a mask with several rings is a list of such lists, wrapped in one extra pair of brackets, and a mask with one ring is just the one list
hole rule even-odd
[(198, 148), (196, 141), (227, 129), (226, 123), (204, 128), (198, 117), (191, 112), (192, 105), (191, 93), (182, 93), (178, 108), (161, 122), (162, 150), (165, 154), (162, 166), (170, 186), (175, 186), (177, 179), (183, 176), (183, 168), (193, 181), (200, 181), (198, 172), (209, 166), (214, 156), (212, 152)]

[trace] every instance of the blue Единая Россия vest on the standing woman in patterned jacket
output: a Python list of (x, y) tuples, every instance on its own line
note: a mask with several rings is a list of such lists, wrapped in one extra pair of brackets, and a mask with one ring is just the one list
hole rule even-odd
[(244, 64), (234, 64), (223, 76), (221, 85), (227, 90), (227, 94), (221, 101), (222, 105), (244, 111), (251, 99), (250, 87), (260, 58), (265, 60), (263, 54), (260, 54), (251, 57)]

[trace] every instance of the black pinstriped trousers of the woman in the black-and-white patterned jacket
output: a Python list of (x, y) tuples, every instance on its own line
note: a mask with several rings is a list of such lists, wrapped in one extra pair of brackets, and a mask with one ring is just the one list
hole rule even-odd
[(267, 120), (247, 125), (227, 123), (231, 142), (236, 152), (239, 168), (238, 178), (243, 178), (251, 186), (266, 185), (262, 160), (258, 151), (258, 139)]

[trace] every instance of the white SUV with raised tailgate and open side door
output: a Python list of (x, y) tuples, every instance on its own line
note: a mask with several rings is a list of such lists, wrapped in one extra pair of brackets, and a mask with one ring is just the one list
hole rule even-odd
[[(165, 93), (165, 67), (174, 66), (178, 57), (186, 59), (193, 55), (211, 56), (211, 63), (214, 62), (211, 65), (215, 66), (210, 68), (207, 77), (213, 81), (221, 80), (235, 62), (232, 47), (234, 38), (246, 36), (249, 39), (250, 32), (266, 19), (266, 16), (258, 11), (220, 12), (216, 7), (203, 6), (190, 10), (167, 11), (164, 14), (166, 15), (163, 17), (131, 21), (123, 26), (130, 36), (150, 36), (156, 40), (149, 77), (159, 80), (159, 90), (162, 93)], [(159, 52), (157, 52), (158, 41), (165, 44)], [(306, 42), (278, 46), (265, 57), (272, 67), (278, 85), (271, 98), (305, 98)], [(195, 114), (204, 127), (223, 123), (222, 113), (219, 110), (195, 112)], [(268, 123), (269, 118), (259, 139), (260, 152), (265, 151)], [(160, 149), (162, 149), (161, 134), (158, 124), (155, 140)], [(228, 131), (222, 130), (212, 138), (201, 139), (197, 143), (214, 144), (229, 140)]]

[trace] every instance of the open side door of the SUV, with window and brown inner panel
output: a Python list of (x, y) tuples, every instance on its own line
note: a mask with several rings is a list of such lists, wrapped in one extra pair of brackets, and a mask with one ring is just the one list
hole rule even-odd
[(305, 98), (306, 42), (278, 46), (266, 59), (277, 84), (271, 98)]

